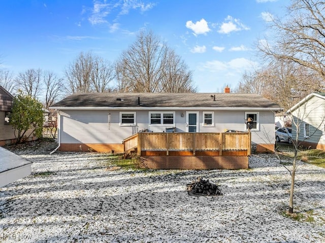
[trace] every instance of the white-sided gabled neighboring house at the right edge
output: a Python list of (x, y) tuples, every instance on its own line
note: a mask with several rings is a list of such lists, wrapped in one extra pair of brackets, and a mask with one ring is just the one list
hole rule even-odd
[(293, 117), (293, 140), (305, 147), (325, 150), (325, 93), (311, 93), (290, 108), (287, 113)]

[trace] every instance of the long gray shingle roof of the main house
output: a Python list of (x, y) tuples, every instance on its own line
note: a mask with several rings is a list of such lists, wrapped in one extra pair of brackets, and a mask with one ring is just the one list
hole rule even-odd
[(280, 109), (279, 105), (260, 95), (239, 93), (75, 93), (52, 106), (55, 109), (91, 107)]

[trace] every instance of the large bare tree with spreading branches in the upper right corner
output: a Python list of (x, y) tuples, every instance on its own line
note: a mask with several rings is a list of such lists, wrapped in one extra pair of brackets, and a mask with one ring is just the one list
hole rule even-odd
[[(325, 3), (319, 0), (295, 0), (284, 21), (274, 18), (274, 45), (259, 42), (258, 49), (266, 59), (297, 63), (310, 68), (325, 81)], [(324, 88), (322, 83), (321, 88)]]

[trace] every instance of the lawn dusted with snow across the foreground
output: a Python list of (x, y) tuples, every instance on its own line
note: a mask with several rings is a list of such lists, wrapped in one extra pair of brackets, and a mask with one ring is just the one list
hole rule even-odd
[[(0, 188), (0, 242), (325, 242), (325, 169), (290, 176), (270, 155), (242, 170), (114, 170), (96, 153), (23, 155), (32, 175)], [(222, 196), (189, 196), (198, 177)]]

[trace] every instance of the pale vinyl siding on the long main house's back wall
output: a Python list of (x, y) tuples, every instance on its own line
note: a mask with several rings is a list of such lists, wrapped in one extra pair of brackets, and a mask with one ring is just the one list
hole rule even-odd
[[(126, 111), (123, 113), (129, 112), (136, 113), (135, 126), (120, 126), (120, 111), (60, 111), (60, 143), (121, 144), (124, 138), (143, 129), (166, 132), (166, 128), (176, 127), (176, 132), (185, 132), (186, 130), (186, 111), (167, 111), (167, 113), (174, 114), (174, 124), (166, 124), (166, 126), (164, 124), (160, 124), (160, 126), (150, 125), (149, 111)], [(182, 113), (184, 114), (183, 117), (181, 116)], [(224, 132), (227, 129), (243, 131), (244, 117), (244, 111), (214, 111), (214, 126), (203, 126), (203, 111), (200, 111), (199, 131)], [(260, 131), (252, 131), (252, 142), (274, 144), (273, 112), (259, 111), (259, 126), (261, 127)]]

